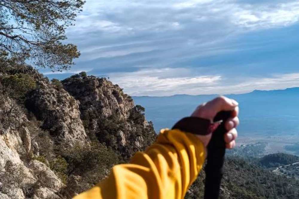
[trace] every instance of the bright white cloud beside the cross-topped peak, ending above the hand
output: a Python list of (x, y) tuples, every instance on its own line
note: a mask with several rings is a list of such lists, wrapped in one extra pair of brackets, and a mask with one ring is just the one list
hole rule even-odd
[[(182, 76), (183, 75), (183, 76)], [(213, 86), (221, 80), (220, 75), (191, 76), (184, 68), (142, 70), (132, 73), (109, 74), (130, 95), (171, 95), (186, 92), (192, 87)]]

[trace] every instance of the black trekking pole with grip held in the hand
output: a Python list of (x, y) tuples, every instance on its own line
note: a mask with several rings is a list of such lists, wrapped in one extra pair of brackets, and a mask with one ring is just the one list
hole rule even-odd
[(231, 117), (231, 111), (221, 111), (214, 117), (214, 122), (221, 124), (213, 132), (208, 144), (207, 165), (205, 166), (205, 199), (217, 199), (219, 197), (220, 184), (223, 176), (223, 164), (225, 159), (224, 134), (225, 121)]

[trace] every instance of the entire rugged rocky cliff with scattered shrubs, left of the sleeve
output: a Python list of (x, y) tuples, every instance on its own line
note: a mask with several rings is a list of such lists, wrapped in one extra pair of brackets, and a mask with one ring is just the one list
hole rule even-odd
[(71, 198), (155, 140), (144, 109), (105, 78), (0, 67), (0, 198)]

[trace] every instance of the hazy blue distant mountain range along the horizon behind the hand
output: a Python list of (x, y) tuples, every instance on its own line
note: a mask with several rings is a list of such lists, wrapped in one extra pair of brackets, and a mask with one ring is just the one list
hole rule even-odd
[[(189, 116), (197, 105), (218, 95), (173, 95), (169, 97), (133, 97), (145, 107), (146, 118), (155, 131), (171, 128), (182, 117)], [(225, 95), (239, 102), (240, 136), (249, 134), (299, 135), (299, 88), (255, 90), (246, 94)]]

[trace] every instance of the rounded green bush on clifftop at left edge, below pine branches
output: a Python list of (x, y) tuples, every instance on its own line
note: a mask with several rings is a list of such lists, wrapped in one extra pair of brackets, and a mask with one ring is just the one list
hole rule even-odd
[(15, 99), (23, 99), (28, 92), (36, 89), (35, 80), (28, 74), (2, 76), (0, 82), (3, 85), (4, 93)]

